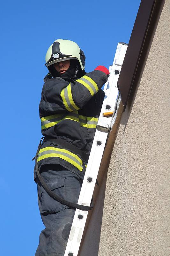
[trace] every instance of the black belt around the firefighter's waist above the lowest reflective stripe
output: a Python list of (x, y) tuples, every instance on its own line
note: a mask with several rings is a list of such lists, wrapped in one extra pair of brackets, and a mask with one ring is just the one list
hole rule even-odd
[(67, 148), (68, 150), (71, 150), (74, 154), (80, 155), (81, 158), (85, 161), (85, 163), (88, 162), (89, 155), (87, 155), (85, 152), (80, 150), (79, 148), (75, 147), (74, 145), (70, 144), (69, 142), (62, 140), (62, 139), (52, 139), (50, 137), (45, 137), (44, 141), (51, 141), (55, 142), (58, 146)]

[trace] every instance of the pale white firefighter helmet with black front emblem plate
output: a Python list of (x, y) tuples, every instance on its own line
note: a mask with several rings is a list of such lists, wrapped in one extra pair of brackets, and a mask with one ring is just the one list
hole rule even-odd
[[(70, 40), (57, 39), (50, 45), (46, 53), (46, 66), (51, 73), (53, 68), (50, 67), (56, 62), (63, 60), (77, 59), (81, 70), (85, 69), (85, 55), (78, 44)], [(53, 73), (53, 72), (52, 72)], [(51, 74), (53, 76), (53, 74)]]

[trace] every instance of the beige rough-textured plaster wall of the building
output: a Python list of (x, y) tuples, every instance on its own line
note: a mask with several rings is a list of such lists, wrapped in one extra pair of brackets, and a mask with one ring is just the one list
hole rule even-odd
[(169, 5), (160, 8), (141, 77), (122, 115), (106, 191), (101, 187), (81, 256), (170, 255)]

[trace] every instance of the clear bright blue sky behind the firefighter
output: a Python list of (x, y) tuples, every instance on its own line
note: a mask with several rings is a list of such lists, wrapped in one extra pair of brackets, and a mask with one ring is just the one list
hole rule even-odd
[(41, 138), (38, 105), (45, 54), (55, 39), (79, 44), (86, 72), (112, 64), (129, 42), (140, 1), (3, 1), (1, 26), (1, 255), (34, 255), (44, 228), (32, 158)]

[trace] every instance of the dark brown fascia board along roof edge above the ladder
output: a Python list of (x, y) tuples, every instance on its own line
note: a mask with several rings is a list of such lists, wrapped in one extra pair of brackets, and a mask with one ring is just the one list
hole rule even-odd
[(117, 86), (121, 94), (124, 109), (133, 85), (138, 63), (144, 47), (150, 20), (156, 0), (142, 0), (130, 36), (128, 48), (118, 78)]

